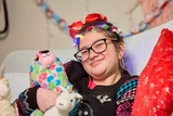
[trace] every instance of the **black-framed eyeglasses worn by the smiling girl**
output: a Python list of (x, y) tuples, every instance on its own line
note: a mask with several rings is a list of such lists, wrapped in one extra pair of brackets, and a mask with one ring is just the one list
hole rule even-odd
[[(78, 61), (84, 62), (90, 57), (90, 50), (92, 50), (96, 54), (104, 52), (107, 49), (106, 40), (107, 40), (106, 38), (99, 39), (95, 41), (90, 48), (83, 48), (79, 50), (76, 54), (74, 54), (74, 56)], [(116, 39), (111, 39), (111, 40), (116, 40)]]

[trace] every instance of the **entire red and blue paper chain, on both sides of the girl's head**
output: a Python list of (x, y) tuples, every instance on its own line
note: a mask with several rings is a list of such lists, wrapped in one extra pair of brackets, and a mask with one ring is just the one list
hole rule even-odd
[[(44, 0), (35, 0), (36, 3), (43, 9), (48, 18), (52, 18), (62, 31), (69, 35), (68, 25), (64, 18), (54, 13)], [(142, 21), (137, 27), (133, 27), (130, 33), (123, 35), (123, 38), (131, 37), (148, 29), (150, 23), (162, 14), (163, 8), (172, 0), (159, 0), (158, 5), (152, 9), (151, 13)]]

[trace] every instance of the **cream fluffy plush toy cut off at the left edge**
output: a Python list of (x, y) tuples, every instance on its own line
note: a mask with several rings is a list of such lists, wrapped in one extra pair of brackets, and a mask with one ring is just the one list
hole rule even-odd
[(0, 115), (1, 116), (15, 116), (13, 106), (10, 103), (12, 93), (9, 88), (9, 80), (3, 76), (4, 66), (0, 72)]

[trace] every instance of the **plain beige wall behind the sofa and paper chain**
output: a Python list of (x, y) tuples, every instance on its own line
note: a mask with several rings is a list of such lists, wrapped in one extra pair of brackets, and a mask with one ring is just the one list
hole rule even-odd
[[(124, 12), (130, 0), (45, 1), (68, 24), (84, 20), (88, 13), (99, 12), (124, 33), (128, 33), (132, 26), (138, 25), (143, 20), (141, 7), (133, 12), (131, 20), (128, 18)], [(6, 0), (6, 2), (10, 28), (6, 34), (0, 35), (0, 64), (5, 55), (14, 50), (72, 48), (69, 36), (61, 31), (52, 21), (45, 17), (45, 13), (36, 4), (35, 0)], [(3, 20), (0, 20), (0, 26), (3, 26)]]

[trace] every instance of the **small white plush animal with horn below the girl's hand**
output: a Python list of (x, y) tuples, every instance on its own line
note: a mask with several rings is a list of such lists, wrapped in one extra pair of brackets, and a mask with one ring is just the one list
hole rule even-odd
[(48, 109), (43, 116), (68, 116), (69, 112), (75, 107), (76, 101), (82, 99), (79, 93), (72, 92), (65, 88), (61, 88), (62, 93), (55, 102), (55, 106)]

